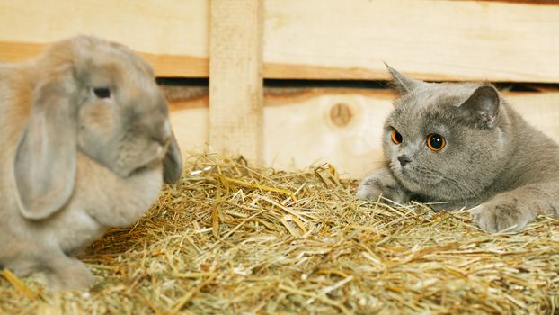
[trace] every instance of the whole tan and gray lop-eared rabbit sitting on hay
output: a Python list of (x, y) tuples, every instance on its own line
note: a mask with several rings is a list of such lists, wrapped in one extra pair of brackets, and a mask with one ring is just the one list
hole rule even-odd
[(76, 251), (182, 174), (152, 68), (94, 37), (0, 64), (0, 143), (0, 265), (63, 289), (93, 280)]

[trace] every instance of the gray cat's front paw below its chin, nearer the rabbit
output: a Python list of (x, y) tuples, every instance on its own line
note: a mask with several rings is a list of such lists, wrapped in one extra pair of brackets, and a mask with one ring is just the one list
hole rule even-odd
[(396, 203), (408, 201), (404, 188), (395, 181), (388, 170), (380, 170), (369, 175), (359, 184), (356, 193), (358, 199), (374, 202), (378, 201), (381, 195)]

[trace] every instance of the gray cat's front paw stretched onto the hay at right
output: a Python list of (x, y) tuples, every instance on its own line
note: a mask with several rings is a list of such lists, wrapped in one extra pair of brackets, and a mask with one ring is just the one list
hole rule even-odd
[(490, 233), (516, 232), (524, 229), (530, 221), (527, 214), (515, 201), (485, 202), (471, 211), (475, 224)]

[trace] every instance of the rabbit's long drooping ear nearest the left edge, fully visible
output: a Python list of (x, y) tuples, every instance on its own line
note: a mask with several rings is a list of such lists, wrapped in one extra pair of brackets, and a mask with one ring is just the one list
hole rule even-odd
[(49, 217), (74, 190), (78, 93), (72, 74), (71, 65), (58, 67), (33, 91), (13, 168), (20, 211), (27, 219)]

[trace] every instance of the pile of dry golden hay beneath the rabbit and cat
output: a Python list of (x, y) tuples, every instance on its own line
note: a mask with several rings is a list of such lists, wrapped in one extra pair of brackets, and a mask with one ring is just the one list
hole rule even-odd
[(488, 235), (467, 211), (356, 201), (332, 166), (204, 156), (187, 168), (81, 257), (90, 291), (49, 293), (4, 271), (0, 312), (536, 314), (559, 302), (559, 220)]

